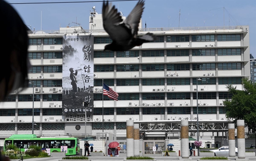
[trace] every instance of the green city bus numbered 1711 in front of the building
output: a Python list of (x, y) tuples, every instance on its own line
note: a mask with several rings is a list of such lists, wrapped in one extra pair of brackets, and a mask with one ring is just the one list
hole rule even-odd
[(66, 152), (66, 155), (79, 155), (79, 139), (69, 136), (55, 137), (37, 137), (35, 134), (14, 134), (5, 139), (4, 150), (6, 146), (12, 144), (21, 148), (25, 152), (30, 145), (42, 147), (50, 155), (51, 152)]

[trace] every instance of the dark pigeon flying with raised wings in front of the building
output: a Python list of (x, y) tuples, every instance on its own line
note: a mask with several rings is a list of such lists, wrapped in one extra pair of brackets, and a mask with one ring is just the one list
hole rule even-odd
[(108, 1), (106, 3), (105, 1), (103, 2), (103, 27), (113, 40), (111, 44), (105, 46), (104, 50), (127, 51), (134, 46), (140, 46), (156, 39), (156, 36), (152, 33), (137, 37), (143, 6), (144, 0), (139, 0), (130, 15), (122, 22), (122, 16), (117, 12), (115, 6), (112, 7), (111, 3), (109, 5)]

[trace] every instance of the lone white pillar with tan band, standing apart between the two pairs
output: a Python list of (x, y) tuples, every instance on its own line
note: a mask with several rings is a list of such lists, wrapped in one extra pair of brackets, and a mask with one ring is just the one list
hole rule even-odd
[(189, 121), (181, 120), (181, 158), (189, 158)]

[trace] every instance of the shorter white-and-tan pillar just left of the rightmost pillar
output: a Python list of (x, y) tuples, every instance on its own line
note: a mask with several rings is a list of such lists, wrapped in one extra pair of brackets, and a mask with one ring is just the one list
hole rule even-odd
[(229, 157), (235, 157), (235, 124), (229, 124)]

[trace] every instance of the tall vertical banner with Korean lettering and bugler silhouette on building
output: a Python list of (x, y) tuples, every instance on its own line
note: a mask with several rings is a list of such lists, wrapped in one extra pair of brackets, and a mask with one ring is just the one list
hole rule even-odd
[(93, 36), (64, 36), (62, 114), (93, 114)]

